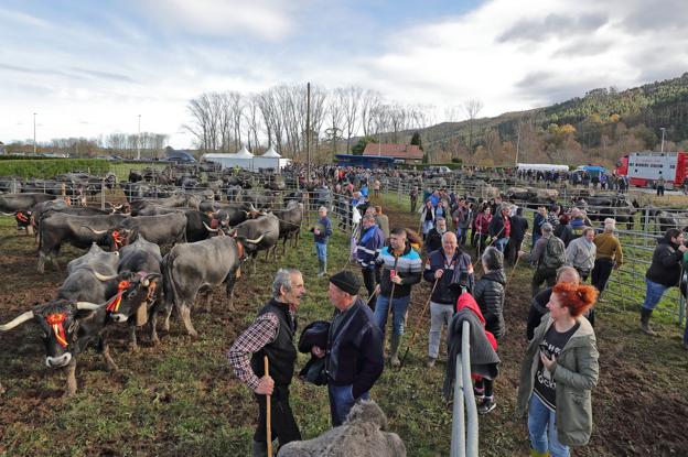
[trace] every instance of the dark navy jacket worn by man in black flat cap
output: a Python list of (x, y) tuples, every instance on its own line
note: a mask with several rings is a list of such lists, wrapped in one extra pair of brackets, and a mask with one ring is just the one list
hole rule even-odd
[(334, 333), (330, 327), (325, 367), (330, 382), (353, 384), (352, 394), (357, 399), (370, 390), (385, 368), (383, 333), (361, 298), (356, 298), (343, 318)]

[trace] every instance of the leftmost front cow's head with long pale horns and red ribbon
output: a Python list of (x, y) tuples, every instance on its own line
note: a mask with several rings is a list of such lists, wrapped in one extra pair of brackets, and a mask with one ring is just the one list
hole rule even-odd
[(34, 306), (8, 324), (0, 325), (1, 331), (10, 330), (25, 322), (33, 322), (41, 329), (45, 345), (45, 364), (61, 368), (69, 364), (76, 355), (75, 341), (83, 319), (93, 317), (99, 305), (67, 300), (56, 300)]

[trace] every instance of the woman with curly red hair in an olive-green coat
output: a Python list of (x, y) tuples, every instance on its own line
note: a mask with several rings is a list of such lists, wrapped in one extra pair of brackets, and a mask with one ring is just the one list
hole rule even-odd
[(520, 369), (518, 412), (528, 411), (530, 455), (560, 457), (588, 444), (590, 392), (600, 367), (592, 326), (583, 316), (598, 298), (590, 285), (559, 283), (536, 328)]

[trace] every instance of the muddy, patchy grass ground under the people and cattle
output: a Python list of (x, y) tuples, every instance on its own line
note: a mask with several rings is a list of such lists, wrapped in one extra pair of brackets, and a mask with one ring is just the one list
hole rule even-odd
[[(388, 214), (393, 226), (417, 226), (415, 215)], [(30, 305), (54, 296), (64, 270), (55, 272), (47, 266), (44, 275), (37, 274), (33, 240), (18, 236), (7, 218), (0, 236), (0, 320), (8, 322)], [(343, 246), (345, 241), (340, 249)], [(314, 262), (305, 260), (310, 249), (302, 242), (300, 251), (283, 260), (307, 272), (307, 287), (314, 296), (313, 304), (304, 307), (304, 320), (326, 318), (329, 313), (322, 311), (326, 281), (319, 282), (312, 274)], [(64, 249), (62, 265), (80, 253)], [(331, 251), (330, 255), (334, 258), (331, 265), (344, 264), (343, 253)], [(143, 336), (140, 351), (130, 353), (126, 331), (116, 331), (112, 351), (121, 372), (108, 373), (104, 361), (89, 351), (79, 359), (79, 392), (72, 400), (62, 396), (64, 376), (43, 364), (43, 348), (33, 326), (1, 333), (0, 381), (7, 392), (0, 398), (0, 454), (248, 455), (255, 406), (246, 389), (233, 379), (224, 352), (250, 322), (256, 303), (268, 297), (276, 268), (260, 263), (257, 276), (239, 281), (236, 312), (226, 306), (224, 291), (215, 291), (212, 313), (202, 307), (194, 311), (194, 325), (202, 334), (198, 340), (187, 337), (173, 320), (170, 334), (161, 334), (162, 345), (152, 347)], [(516, 417), (514, 410), (526, 347), (530, 274), (527, 268), (519, 268), (508, 285), (508, 334), (501, 342), (503, 363), (496, 382), (498, 406), (481, 417), (481, 455), (527, 454), (525, 421)], [(390, 428), (399, 433), (413, 456), (449, 454), (451, 411), (438, 395), (444, 366), (433, 370), (422, 366), (429, 316), (420, 316), (420, 311), (429, 291), (423, 284), (413, 292), (402, 348), (418, 322), (420, 331), (407, 360), (409, 367), (399, 372), (386, 370), (373, 391), (390, 416)], [(603, 303), (598, 309), (601, 378), (592, 394), (595, 428), (591, 443), (574, 455), (688, 455), (688, 353), (680, 349), (679, 329), (662, 323), (659, 337), (648, 338), (637, 330), (635, 313), (621, 312), (613, 303)], [(300, 359), (300, 364), (304, 360)], [(326, 429), (326, 394), (302, 384), (294, 391), (294, 411), (304, 436)], [(312, 416), (318, 421), (310, 421)]]

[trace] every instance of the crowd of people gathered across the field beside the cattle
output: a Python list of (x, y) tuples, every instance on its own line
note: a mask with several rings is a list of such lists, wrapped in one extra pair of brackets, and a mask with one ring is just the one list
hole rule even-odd
[[(487, 359), (498, 361), (498, 345), (508, 324), (504, 317), (506, 266), (522, 261), (534, 268), (525, 335), (528, 348), (518, 389), (518, 411), (528, 417), (531, 455), (567, 456), (570, 446), (587, 444), (592, 433), (591, 390), (599, 379), (594, 307), (611, 272), (624, 261), (614, 219), (595, 228), (583, 210), (552, 205), (539, 207), (529, 221), (523, 208), (499, 197), (481, 200), (441, 188), (412, 188), (410, 210), (419, 215), (418, 230), (390, 229), (383, 208), (368, 200), (367, 181), (361, 181), (357, 191), (350, 184), (350, 214), (355, 215), (351, 222), (361, 227), (352, 255), (361, 274), (344, 270), (329, 276), (333, 317), (309, 325), (301, 336), (307, 342), (299, 344), (300, 350), (312, 356), (301, 372), (303, 378), (327, 385), (332, 425), (343, 424), (357, 401), (370, 398), (385, 367), (386, 335), (388, 362), (393, 367), (402, 363), (400, 346), (411, 292), (421, 281), (431, 286), (426, 367), (432, 369), (441, 357), (442, 331), (452, 340), (455, 322), (461, 319), (469, 319), (484, 336)], [(379, 191), (378, 182), (372, 187)], [(331, 227), (323, 207), (313, 231), (321, 276), (326, 274)], [(531, 249), (526, 252), (523, 246), (529, 229)], [(649, 328), (653, 309), (664, 292), (678, 284), (687, 251), (676, 229), (669, 229), (657, 246), (645, 280), (643, 333), (654, 335)], [(482, 274), (476, 274), (474, 259)], [(590, 285), (585, 284), (589, 280)], [(542, 283), (547, 289), (540, 290)], [(301, 437), (289, 406), (289, 384), (297, 358), (294, 315), (305, 293), (302, 274), (278, 271), (272, 292), (272, 300), (229, 351), (237, 377), (255, 392), (258, 403), (255, 456), (265, 455), (267, 445), (266, 394), (272, 395), (272, 431), (280, 446)], [(448, 346), (451, 355), (452, 344)], [(684, 347), (688, 349), (688, 333)], [(268, 372), (262, 363), (266, 357)], [(479, 413), (490, 413), (497, 404), (496, 370), (474, 374)]]

